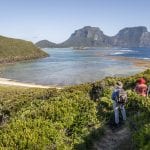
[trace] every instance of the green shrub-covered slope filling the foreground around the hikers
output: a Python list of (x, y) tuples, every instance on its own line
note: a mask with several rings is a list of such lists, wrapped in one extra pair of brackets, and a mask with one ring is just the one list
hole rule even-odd
[(111, 92), (117, 80), (128, 92), (126, 105), (132, 148), (150, 148), (150, 98), (132, 89), (138, 77), (150, 81), (150, 70), (127, 78), (105, 78), (98, 101), (90, 83), (57, 89), (0, 87), (1, 149), (91, 149), (113, 116)]

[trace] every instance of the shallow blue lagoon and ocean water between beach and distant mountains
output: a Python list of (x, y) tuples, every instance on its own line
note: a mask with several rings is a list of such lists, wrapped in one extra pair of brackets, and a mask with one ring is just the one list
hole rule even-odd
[(0, 67), (0, 76), (25, 83), (73, 85), (93, 82), (106, 76), (127, 76), (144, 70), (132, 62), (109, 56), (150, 60), (150, 49), (47, 48), (47, 58)]

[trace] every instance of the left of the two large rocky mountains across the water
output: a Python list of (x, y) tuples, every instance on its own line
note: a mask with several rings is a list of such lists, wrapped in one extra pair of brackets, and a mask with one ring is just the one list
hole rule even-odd
[(109, 45), (109, 37), (104, 35), (104, 33), (98, 27), (86, 26), (82, 29), (76, 30), (68, 40), (61, 43), (62, 47), (106, 47)]

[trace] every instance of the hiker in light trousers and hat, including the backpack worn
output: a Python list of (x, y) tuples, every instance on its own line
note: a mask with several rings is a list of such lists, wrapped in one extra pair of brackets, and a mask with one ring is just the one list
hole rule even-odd
[(115, 114), (115, 125), (119, 127), (119, 108), (121, 109), (121, 114), (123, 121), (126, 120), (126, 111), (124, 104), (127, 102), (127, 94), (123, 89), (122, 82), (118, 81), (116, 83), (115, 89), (112, 93), (113, 109)]

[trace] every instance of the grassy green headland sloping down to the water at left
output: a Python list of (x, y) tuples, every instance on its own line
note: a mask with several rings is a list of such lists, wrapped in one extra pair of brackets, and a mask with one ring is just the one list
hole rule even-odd
[(48, 56), (32, 42), (0, 36), (0, 63), (11, 63)]

